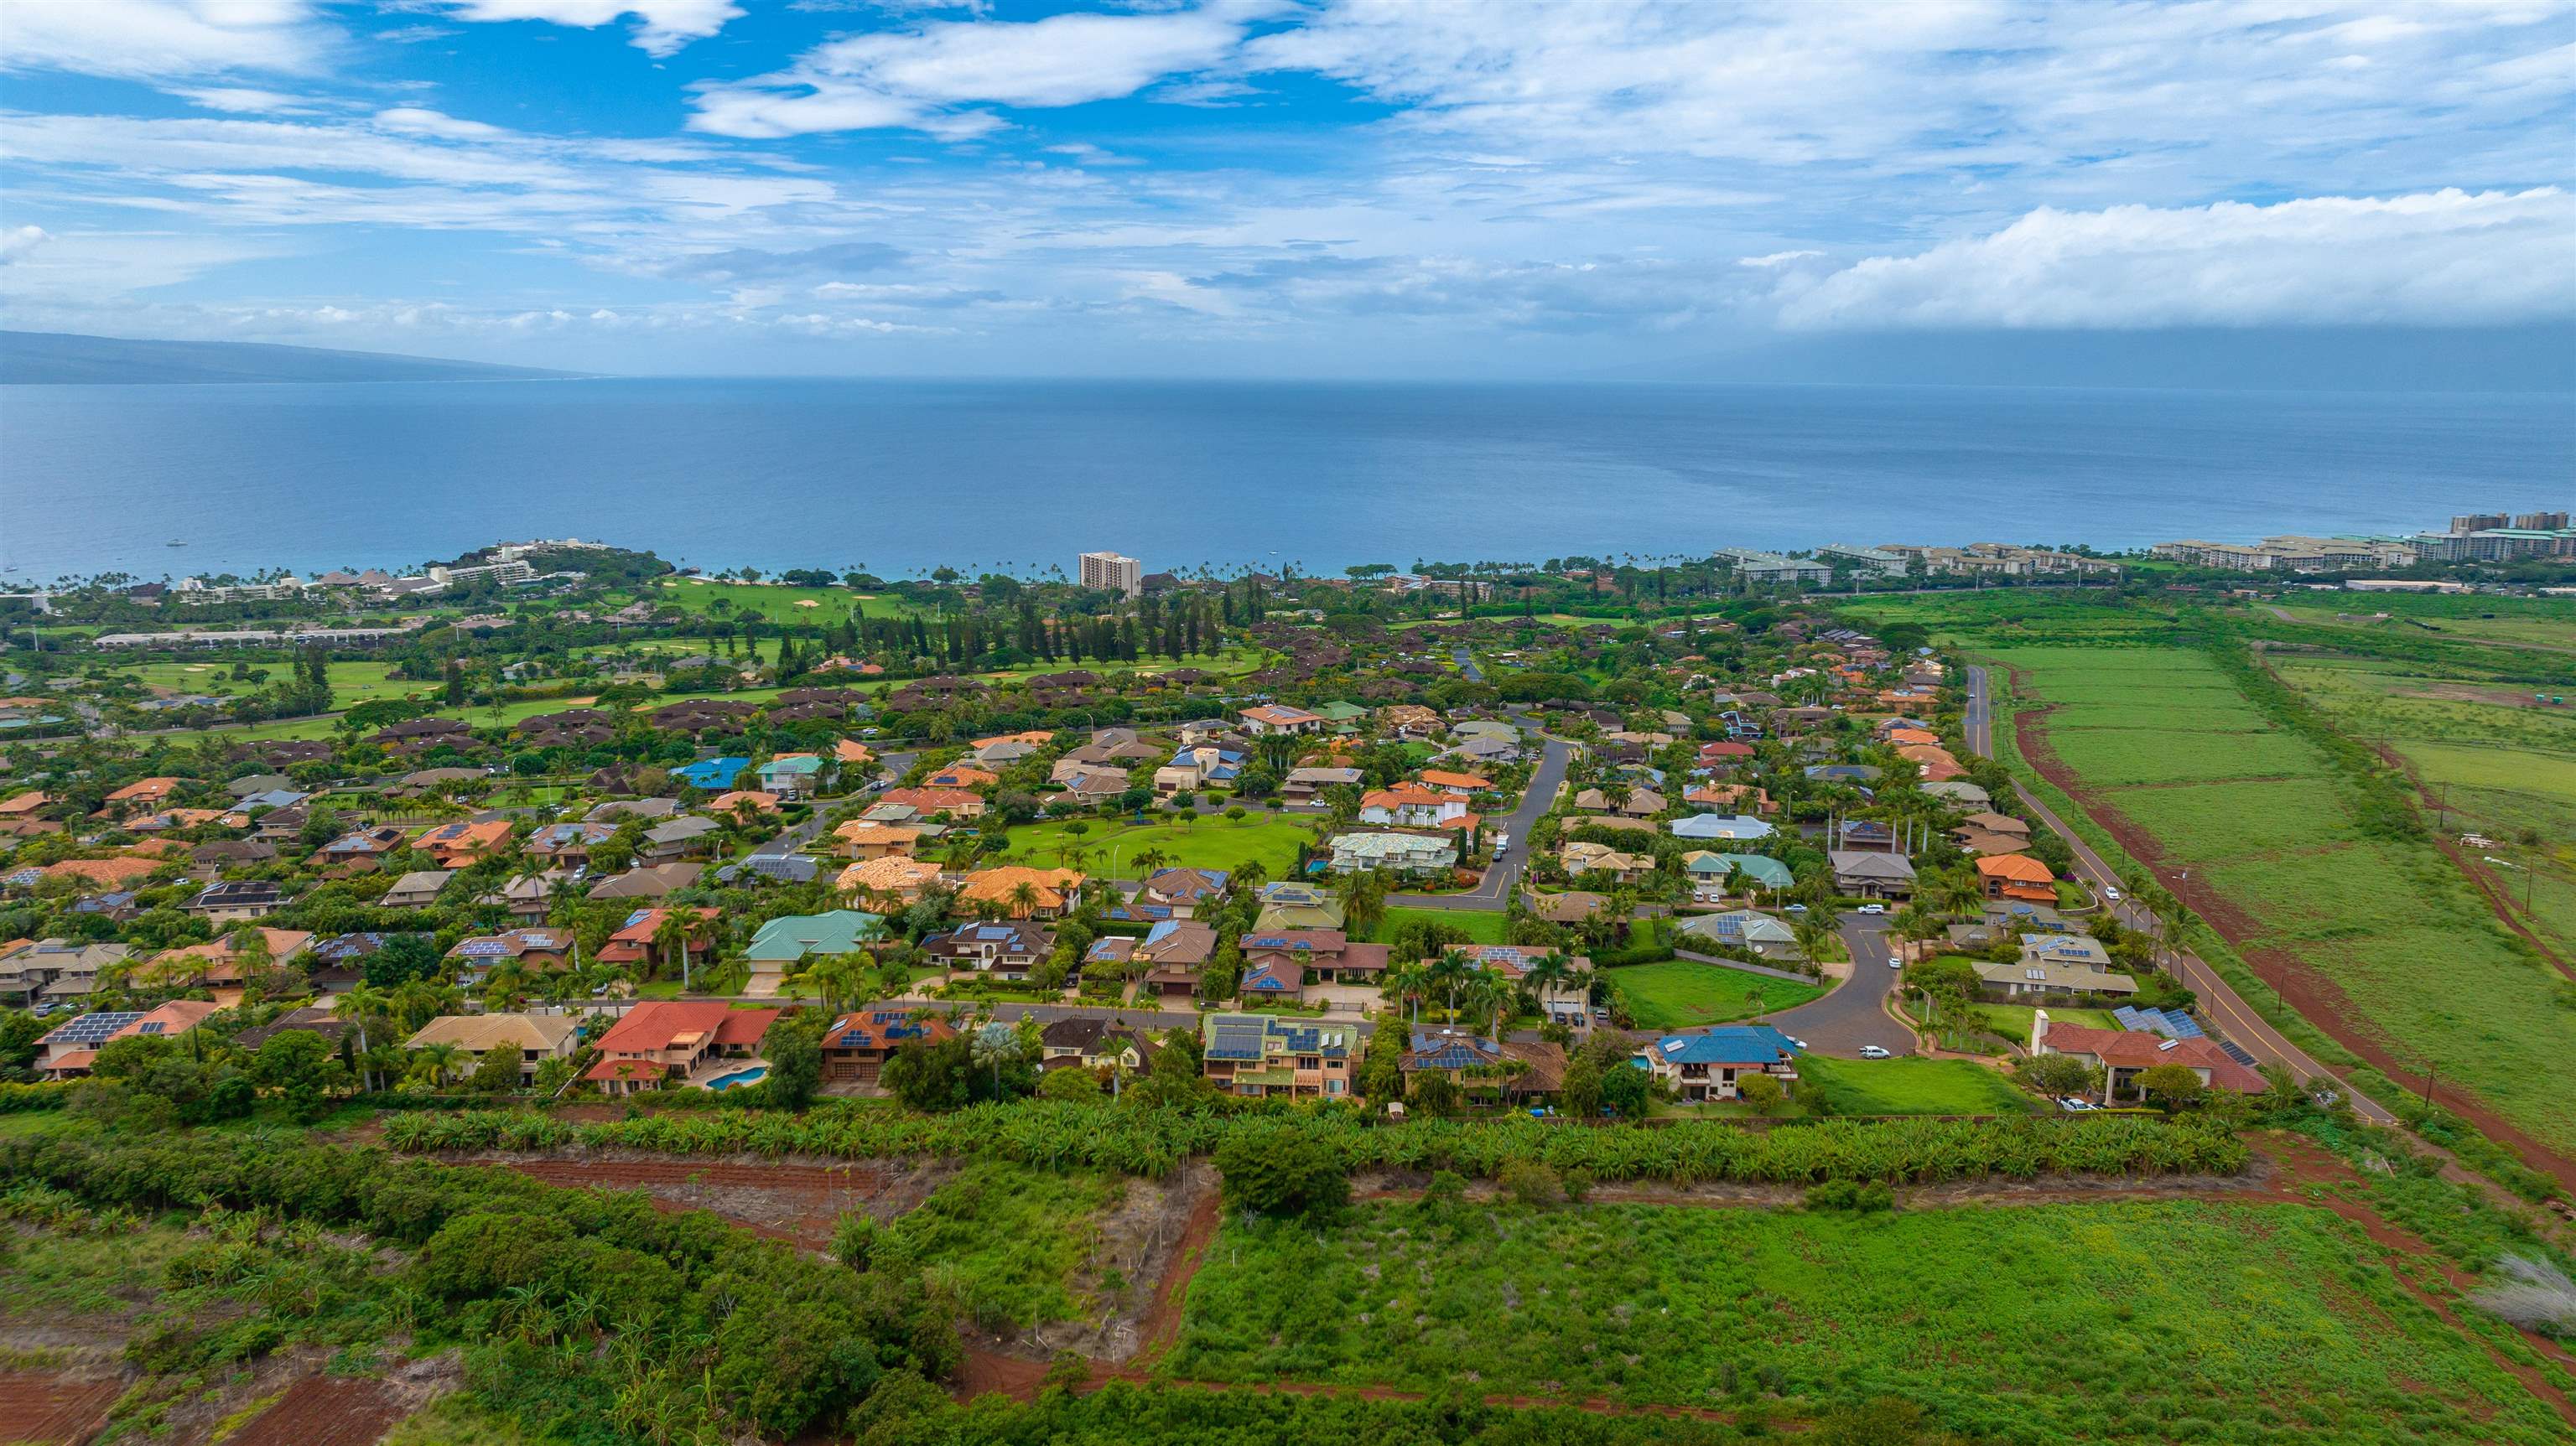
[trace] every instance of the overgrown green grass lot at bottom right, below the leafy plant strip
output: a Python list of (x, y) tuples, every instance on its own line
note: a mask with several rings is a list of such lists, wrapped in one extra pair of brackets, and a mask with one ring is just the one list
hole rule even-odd
[(2563, 1441), (2339, 1217), (2117, 1202), (1819, 1217), (1376, 1204), (1229, 1220), (1175, 1374), (1788, 1410), (1976, 1441)]

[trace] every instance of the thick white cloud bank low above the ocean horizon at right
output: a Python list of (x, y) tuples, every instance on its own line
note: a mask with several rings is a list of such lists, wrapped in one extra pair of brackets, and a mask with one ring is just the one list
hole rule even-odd
[(1780, 322), (1857, 327), (2465, 327), (2576, 316), (2576, 196), (2040, 208), (1989, 237), (1790, 280)]

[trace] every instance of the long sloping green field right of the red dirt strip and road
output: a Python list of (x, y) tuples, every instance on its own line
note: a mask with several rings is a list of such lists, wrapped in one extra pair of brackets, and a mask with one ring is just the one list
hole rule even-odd
[[(2277, 731), (2197, 651), (1999, 648), (1994, 656), (2014, 669), (2022, 697), (2066, 702), (2038, 720), (2025, 715), (2025, 754), (2071, 785), (2257, 970), (2295, 983), (2306, 1014), (2403, 1070), (2439, 1070), (2543, 1148), (2576, 1153), (2576, 1091), (2563, 1088), (2561, 1068), (2576, 1057), (2576, 1011), (2555, 998), (2561, 975), (2496, 924), (2429, 841), (2375, 836), (2326, 751)], [(2287, 677), (2365, 738), (2372, 718), (2447, 728), (2450, 710), (2476, 708), (2401, 697), (2427, 692), (2427, 679), (2367, 682), (2370, 669), (2290, 661)], [(2112, 695), (2128, 697), (2123, 738), (2094, 741), (2097, 705)], [(2496, 705), (2496, 713), (2509, 710)], [(2166, 764), (2169, 782), (2130, 782), (2159, 754), (2190, 762)], [(2576, 772), (2530, 756), (2535, 780)], [(2540, 792), (2550, 787), (2561, 785)]]

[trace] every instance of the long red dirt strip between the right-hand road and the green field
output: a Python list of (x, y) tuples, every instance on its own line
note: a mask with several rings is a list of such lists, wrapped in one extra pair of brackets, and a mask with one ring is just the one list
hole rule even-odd
[[(2012, 672), (2012, 690), (2022, 692), (2020, 669)], [(2486, 1137), (2512, 1145), (2514, 1153), (2519, 1153), (2527, 1166), (2555, 1178), (2561, 1189), (2576, 1194), (2576, 1158), (2563, 1155), (2543, 1145), (2540, 1140), (2532, 1140), (2530, 1135), (2509, 1124), (2501, 1114), (2478, 1104), (2476, 1096), (2463, 1094), (2458, 1086), (2427, 1081), (2421, 1073), (2414, 1073), (2406, 1065), (2401, 1065), (2396, 1055), (2391, 1055), (2388, 1047), (2378, 1039), (2375, 1029), (2362, 1021), (2360, 1011), (2352, 1009), (2352, 1001), (2344, 996), (2342, 988), (2334, 985), (2334, 980), (2324, 978), (2318, 970), (2308, 967), (2303, 960), (2293, 955), (2285, 955), (2280, 949), (2251, 947), (2249, 939), (2262, 934), (2259, 921), (2236, 903), (2231, 903), (2228, 898), (2223, 898), (2218, 890), (2213, 890), (2208, 885), (2208, 877), (2174, 877), (2172, 870), (2164, 867), (2166, 865), (2164, 844), (2159, 844), (2154, 834), (2148, 834), (2146, 828), (2138, 828), (2138, 823), (2133, 823), (2128, 816), (2112, 808), (2099, 792), (2087, 787), (2076, 777), (2076, 772), (2069, 769), (2066, 762), (2058, 759), (2058, 754), (2048, 746), (2048, 731), (2043, 718), (2045, 713), (2048, 708), (2025, 708), (2022, 713), (2014, 713), (2012, 736), (2022, 749), (2022, 759), (2027, 759), (2040, 777), (2058, 785), (2066, 792), (2066, 798), (2074, 798), (2076, 805), (2087, 816), (2092, 816), (2092, 821), (2099, 823), (2102, 831), (2117, 839), (2120, 847), (2128, 849), (2133, 859), (2154, 870), (2156, 877), (2174, 893), (2174, 898), (2190, 906), (2192, 913), (2205, 919), (2210, 929), (2215, 929), (2228, 944), (2233, 944), (2236, 955), (2246, 962), (2246, 967), (2254, 970), (2259, 980), (2272, 985), (2272, 991), (2280, 993), (2282, 1003), (2295, 1009), (2303, 1019), (2324, 1029), (2326, 1037), (2331, 1037), (2336, 1045), (2367, 1060), (2372, 1068), (2378, 1068), (2383, 1075), (2396, 1081), (2409, 1094), (2419, 1099), (2429, 1096), (2442, 1109), (2460, 1114), (2463, 1119), (2476, 1124)]]

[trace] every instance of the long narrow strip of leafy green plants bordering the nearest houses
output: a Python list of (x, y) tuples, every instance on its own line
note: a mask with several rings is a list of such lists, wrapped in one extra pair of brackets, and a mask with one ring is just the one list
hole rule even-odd
[[(1893, 1060), (1880, 1060), (1893, 1063)], [(1868, 1065), (1855, 1065), (1868, 1068)], [(1976, 1070), (1976, 1065), (1960, 1065)], [(1528, 1117), (1373, 1122), (1358, 1112), (1195, 1114), (1056, 1101), (979, 1104), (953, 1114), (822, 1106), (801, 1117), (747, 1112), (644, 1114), (574, 1124), (536, 1112), (402, 1114), (397, 1150), (616, 1148), (675, 1155), (974, 1155), (1048, 1168), (1164, 1176), (1185, 1155), (1229, 1137), (1306, 1135), (1329, 1142), (1345, 1171), (1458, 1171), (1499, 1176), (1515, 1160), (1628, 1181), (1937, 1181), (1963, 1176), (2169, 1173), (2244, 1168), (2244, 1145), (2215, 1122), (2030, 1119), (1821, 1119), (1775, 1130), (1723, 1122), (1569, 1127)]]

